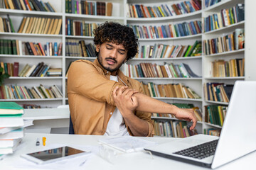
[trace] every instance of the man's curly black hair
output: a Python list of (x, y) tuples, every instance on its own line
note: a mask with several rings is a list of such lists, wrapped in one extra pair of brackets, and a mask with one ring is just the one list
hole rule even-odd
[[(132, 28), (122, 26), (120, 23), (105, 22), (93, 30), (95, 45), (112, 42), (124, 45), (127, 50), (127, 61), (132, 59), (138, 52), (138, 38)], [(98, 52), (96, 51), (96, 55)]]

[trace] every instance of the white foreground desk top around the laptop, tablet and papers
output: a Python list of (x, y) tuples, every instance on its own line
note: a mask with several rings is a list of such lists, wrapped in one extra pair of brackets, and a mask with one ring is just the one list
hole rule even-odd
[[(20, 154), (28, 152), (36, 152), (38, 150), (43, 150), (43, 146), (36, 147), (36, 138), (42, 139), (45, 136), (47, 138), (46, 145), (54, 143), (65, 143), (66, 145), (94, 145), (98, 146), (97, 140), (104, 138), (105, 136), (96, 135), (56, 135), (56, 134), (34, 134), (28, 133), (23, 138), (26, 141), (26, 146), (18, 149), (14, 154), (6, 156), (2, 161), (0, 161), (0, 169), (14, 169), (12, 164), (18, 159)], [(143, 139), (156, 141), (159, 143), (168, 142), (170, 140), (176, 140), (175, 138), (167, 137), (143, 137)], [(220, 166), (222, 169), (255, 169), (256, 152), (247, 154), (245, 157), (241, 157), (234, 162)], [(2, 168), (3, 167), (3, 168)], [(200, 166), (193, 166), (191, 164), (185, 164), (182, 162), (176, 162), (171, 159), (166, 159), (162, 157), (153, 156), (153, 159), (144, 152), (135, 152), (132, 154), (122, 154), (118, 156), (118, 162), (110, 164), (109, 162), (102, 159), (99, 155), (93, 157), (90, 162), (87, 162), (85, 169), (145, 169), (145, 170), (158, 170), (158, 169), (205, 169)]]

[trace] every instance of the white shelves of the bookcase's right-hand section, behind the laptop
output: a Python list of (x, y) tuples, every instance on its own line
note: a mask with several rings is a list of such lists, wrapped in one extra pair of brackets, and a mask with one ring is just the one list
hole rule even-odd
[[(203, 2), (205, 2), (205, 1), (203, 1)], [(208, 6), (207, 8), (204, 6), (202, 18), (204, 20), (204, 18), (211, 16), (214, 13), (220, 13), (222, 11), (222, 9), (232, 8), (233, 6), (236, 6), (237, 4), (246, 4), (247, 5), (247, 1), (223, 0), (217, 4), (214, 4), (213, 6)], [(245, 11), (247, 11), (247, 8), (245, 9)], [(246, 19), (245, 19), (245, 21), (247, 22)], [(242, 29), (242, 28), (245, 29), (245, 23), (246, 23), (245, 21), (233, 23), (229, 26), (224, 26), (223, 28), (210, 30), (207, 32), (204, 31), (204, 33), (202, 35), (202, 39), (210, 40), (210, 39), (214, 39), (214, 38), (218, 38), (218, 37), (223, 37), (224, 35), (233, 33), (236, 29)], [(246, 36), (247, 35), (248, 35), (248, 33), (246, 33)], [(246, 45), (245, 45), (245, 47), (246, 47)], [(206, 44), (204, 44), (203, 49), (204, 49), (203, 59), (202, 59), (203, 88), (204, 88), (205, 84), (207, 84), (207, 83), (235, 84), (235, 81), (238, 81), (238, 80), (248, 80), (245, 77), (245, 75), (247, 74), (246, 72), (243, 75), (232, 76), (232, 77), (230, 75), (227, 77), (228, 74), (226, 74), (226, 77), (223, 77), (223, 76), (217, 76), (217, 77), (214, 76), (213, 77), (213, 74), (211, 74), (211, 72), (213, 71), (213, 70), (211, 70), (211, 67), (212, 67), (211, 62), (214, 62), (216, 60), (217, 61), (224, 60), (225, 62), (228, 62), (229, 60), (235, 60), (238, 58), (245, 59), (245, 48), (233, 49), (233, 50), (229, 50), (229, 51), (222, 51), (222, 52), (213, 53), (213, 54), (207, 54)], [(245, 59), (245, 61), (246, 60), (247, 60), (247, 58)], [(246, 64), (245, 64), (245, 67), (247, 67)], [(206, 109), (209, 109), (208, 107), (206, 108), (206, 106), (228, 106), (228, 102), (208, 100), (208, 98), (206, 98), (206, 93), (204, 95), (202, 104), (203, 104), (204, 120), (206, 120)], [(215, 129), (218, 132), (220, 132), (222, 127), (220, 125), (215, 125), (213, 123), (205, 122), (205, 123), (203, 123), (202, 128), (203, 128), (203, 130), (204, 129)]]

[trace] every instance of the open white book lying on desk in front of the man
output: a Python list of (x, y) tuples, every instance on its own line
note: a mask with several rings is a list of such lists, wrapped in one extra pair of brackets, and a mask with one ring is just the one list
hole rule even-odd
[(99, 140), (99, 142), (122, 152), (142, 151), (144, 147), (156, 145), (156, 142), (142, 140), (132, 136), (112, 137)]

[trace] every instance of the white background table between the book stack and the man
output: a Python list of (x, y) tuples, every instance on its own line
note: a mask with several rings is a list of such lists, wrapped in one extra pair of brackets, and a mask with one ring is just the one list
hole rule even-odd
[(69, 128), (70, 112), (68, 108), (38, 108), (25, 109), (24, 119), (33, 120), (33, 126), (26, 128), (26, 132), (54, 133), (59, 130), (67, 133)]

